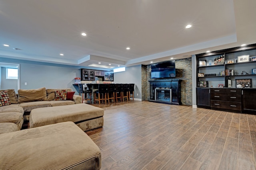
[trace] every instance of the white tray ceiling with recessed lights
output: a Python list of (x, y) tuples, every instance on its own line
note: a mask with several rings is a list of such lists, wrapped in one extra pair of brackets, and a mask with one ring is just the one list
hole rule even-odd
[(183, 59), (256, 43), (255, 9), (256, 0), (1, 0), (0, 57), (83, 67)]

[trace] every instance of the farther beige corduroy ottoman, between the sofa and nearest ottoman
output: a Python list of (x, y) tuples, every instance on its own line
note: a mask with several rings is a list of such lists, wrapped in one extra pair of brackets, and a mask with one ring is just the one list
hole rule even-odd
[(83, 131), (102, 127), (104, 109), (89, 104), (42, 107), (30, 112), (30, 128), (72, 121)]

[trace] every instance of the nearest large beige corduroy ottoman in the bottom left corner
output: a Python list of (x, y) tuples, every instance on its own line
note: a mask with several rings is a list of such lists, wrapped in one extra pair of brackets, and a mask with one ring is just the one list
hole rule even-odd
[(98, 146), (73, 122), (0, 135), (1, 170), (99, 170)]

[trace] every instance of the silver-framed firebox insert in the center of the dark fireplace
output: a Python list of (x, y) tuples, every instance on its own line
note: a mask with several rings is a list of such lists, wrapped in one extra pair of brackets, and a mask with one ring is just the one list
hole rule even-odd
[(155, 100), (172, 102), (172, 89), (171, 88), (155, 88)]

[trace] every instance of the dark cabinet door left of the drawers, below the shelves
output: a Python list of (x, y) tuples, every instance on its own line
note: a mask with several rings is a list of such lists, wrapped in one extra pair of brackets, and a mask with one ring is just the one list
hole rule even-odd
[(211, 107), (210, 88), (196, 88), (197, 106)]

